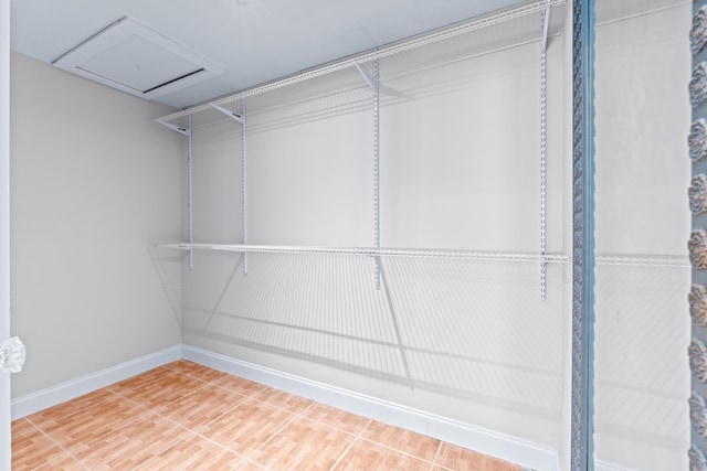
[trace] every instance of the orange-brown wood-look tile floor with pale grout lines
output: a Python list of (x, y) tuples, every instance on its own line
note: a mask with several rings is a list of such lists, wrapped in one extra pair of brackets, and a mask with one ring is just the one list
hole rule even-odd
[(520, 471), (183, 360), (15, 420), (12, 469)]

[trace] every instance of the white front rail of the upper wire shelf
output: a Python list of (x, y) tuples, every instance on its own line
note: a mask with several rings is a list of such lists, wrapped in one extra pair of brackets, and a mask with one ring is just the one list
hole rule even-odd
[(523, 18), (528, 14), (539, 13), (544, 11), (545, 8), (547, 8), (548, 6), (557, 7), (560, 4), (564, 4), (566, 2), (567, 0), (547, 0), (547, 1), (536, 0), (536, 1), (527, 2), (516, 8), (487, 14), (481, 18), (473, 19), (471, 21), (465, 21), (452, 26), (446, 26), (430, 33), (424, 33), (419, 36), (414, 36), (412, 39), (403, 40), (387, 46), (382, 46), (373, 51), (368, 51), (361, 54), (357, 54), (350, 57), (335, 61), (315, 68), (310, 68), (308, 71), (300, 72), (295, 75), (291, 75), (288, 77), (284, 77), (274, 82), (257, 85), (253, 88), (249, 88), (232, 95), (226, 95), (224, 97), (217, 98), (214, 100), (194, 105), (181, 111), (172, 113), (171, 115), (157, 118), (156, 120), (171, 121), (171, 120), (183, 118), (186, 116), (193, 115), (197, 113), (207, 111), (209, 109), (212, 109), (214, 105), (222, 106), (229, 103), (238, 101), (246, 97), (261, 95), (266, 92), (272, 92), (288, 85), (297, 84), (299, 82), (319, 77), (321, 75), (330, 74), (333, 72), (341, 71), (344, 68), (355, 67), (356, 65), (365, 64), (367, 62), (374, 61), (377, 58), (382, 58), (390, 55), (399, 54), (399, 53), (410, 51), (420, 46), (424, 46), (426, 44), (446, 40), (460, 34), (481, 30), (495, 24), (500, 24), (509, 20)]

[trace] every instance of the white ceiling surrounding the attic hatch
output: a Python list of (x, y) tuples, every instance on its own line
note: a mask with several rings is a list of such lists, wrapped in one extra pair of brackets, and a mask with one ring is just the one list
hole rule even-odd
[(152, 97), (184, 108), (514, 3), (519, 2), (12, 0), (11, 49), (52, 63), (128, 17), (219, 69), (215, 76)]

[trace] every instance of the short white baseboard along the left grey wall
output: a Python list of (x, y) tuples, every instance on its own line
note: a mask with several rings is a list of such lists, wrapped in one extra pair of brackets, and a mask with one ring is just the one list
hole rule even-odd
[(109, 386), (182, 357), (182, 346), (175, 345), (119, 365), (60, 383), (12, 400), (12, 420), (29, 416), (66, 400)]

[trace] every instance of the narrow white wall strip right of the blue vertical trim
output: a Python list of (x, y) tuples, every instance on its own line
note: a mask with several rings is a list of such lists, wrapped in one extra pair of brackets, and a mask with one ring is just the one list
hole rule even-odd
[(656, 7), (597, 2), (597, 251), (684, 258), (597, 264), (594, 440), (657, 471), (688, 468), (690, 6)]

